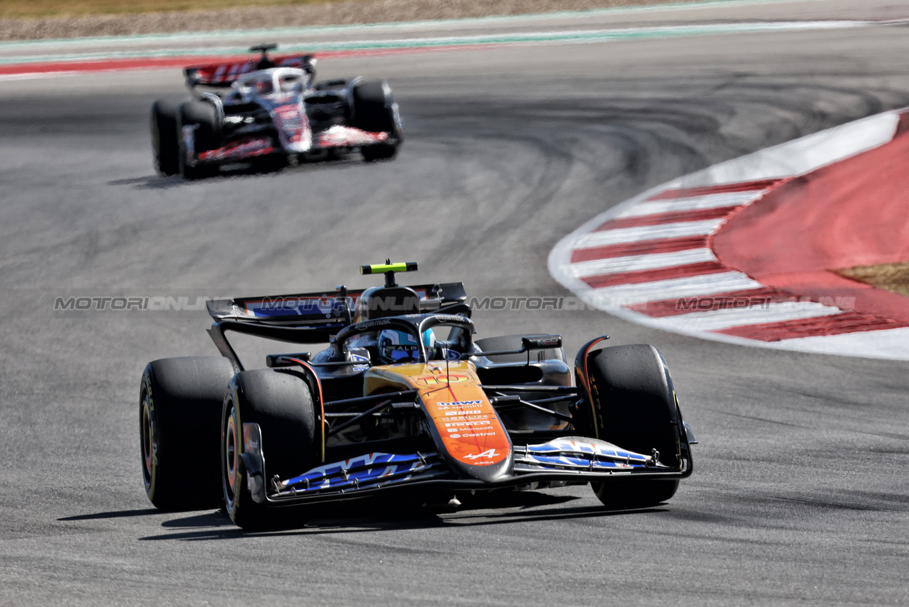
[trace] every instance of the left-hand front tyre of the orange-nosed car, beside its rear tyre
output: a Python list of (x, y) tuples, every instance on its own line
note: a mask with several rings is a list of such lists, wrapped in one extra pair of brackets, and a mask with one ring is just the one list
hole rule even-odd
[(298, 509), (256, 503), (249, 491), (249, 473), (242, 457), (245, 423), (259, 425), (266, 489), (275, 475), (287, 479), (310, 470), (316, 464), (316, 421), (308, 384), (294, 373), (271, 369), (237, 373), (222, 410), (221, 476), (231, 520), (245, 529), (292, 525)]

